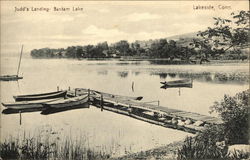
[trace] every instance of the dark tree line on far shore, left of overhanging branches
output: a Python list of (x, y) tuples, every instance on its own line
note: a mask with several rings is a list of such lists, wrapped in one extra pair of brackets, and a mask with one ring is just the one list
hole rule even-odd
[(32, 57), (65, 57), (65, 58), (115, 58), (115, 57), (148, 57), (148, 58), (188, 58), (195, 51), (189, 47), (176, 45), (176, 41), (167, 39), (154, 40), (150, 45), (142, 46), (139, 41), (129, 43), (121, 40), (112, 45), (107, 42), (97, 45), (70, 46), (66, 49), (34, 49)]

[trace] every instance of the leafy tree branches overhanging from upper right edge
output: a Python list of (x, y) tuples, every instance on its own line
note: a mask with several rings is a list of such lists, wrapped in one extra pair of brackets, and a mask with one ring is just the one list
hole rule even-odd
[(213, 45), (214, 50), (223, 49), (234, 51), (248, 44), (250, 11), (231, 13), (231, 18), (215, 18), (214, 27), (199, 32), (204, 41)]

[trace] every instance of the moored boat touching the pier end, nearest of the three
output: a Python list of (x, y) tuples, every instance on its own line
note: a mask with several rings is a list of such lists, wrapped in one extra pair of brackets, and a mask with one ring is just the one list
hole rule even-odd
[(61, 99), (53, 102), (44, 103), (43, 106), (50, 108), (64, 108), (64, 107), (72, 107), (76, 105), (82, 105), (88, 103), (88, 96), (78, 96), (68, 99)]

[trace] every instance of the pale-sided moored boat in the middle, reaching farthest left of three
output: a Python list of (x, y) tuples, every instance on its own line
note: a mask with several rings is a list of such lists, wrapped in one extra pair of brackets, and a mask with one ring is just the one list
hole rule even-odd
[(3, 106), (9, 109), (31, 109), (31, 108), (42, 108), (43, 103), (56, 101), (62, 98), (36, 100), (36, 101), (22, 101), (22, 102), (7, 102), (2, 103)]

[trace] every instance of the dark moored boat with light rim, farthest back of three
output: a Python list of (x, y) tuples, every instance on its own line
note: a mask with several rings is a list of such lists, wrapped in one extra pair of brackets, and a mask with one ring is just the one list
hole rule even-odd
[(49, 93), (41, 93), (41, 94), (31, 94), (31, 95), (18, 95), (13, 96), (16, 102), (19, 101), (33, 101), (33, 100), (41, 100), (41, 99), (51, 99), (51, 98), (62, 98), (65, 97), (67, 91), (57, 91), (57, 92), (49, 92)]

